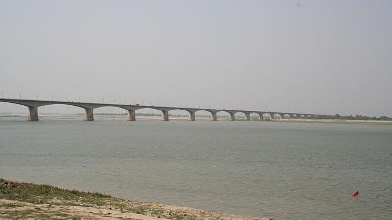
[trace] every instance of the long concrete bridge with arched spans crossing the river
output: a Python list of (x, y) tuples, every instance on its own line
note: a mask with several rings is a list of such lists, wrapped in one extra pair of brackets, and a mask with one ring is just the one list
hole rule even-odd
[(54, 104), (63, 104), (70, 106), (77, 106), (83, 108), (85, 110), (84, 120), (85, 121), (94, 121), (93, 110), (99, 107), (118, 107), (125, 110), (128, 110), (128, 121), (135, 121), (135, 111), (139, 109), (156, 109), (160, 110), (161, 120), (168, 121), (169, 120), (169, 111), (171, 110), (184, 110), (187, 111), (189, 116), (188, 119), (190, 121), (195, 121), (195, 112), (197, 111), (207, 111), (211, 113), (211, 120), (217, 120), (217, 113), (224, 111), (229, 113), (229, 120), (234, 121), (234, 114), (237, 112), (242, 112), (245, 115), (245, 120), (250, 120), (250, 114), (256, 113), (259, 117), (259, 120), (263, 120), (264, 114), (269, 114), (271, 119), (273, 119), (276, 115), (279, 115), (281, 119), (288, 116), (290, 118), (333, 118), (332, 115), (320, 115), (320, 114), (304, 114), (304, 113), (287, 113), (287, 112), (270, 112), (270, 111), (248, 111), (248, 110), (226, 110), (226, 109), (201, 109), (201, 108), (182, 108), (182, 107), (166, 107), (166, 106), (141, 106), (141, 105), (119, 105), (119, 104), (105, 104), (105, 103), (87, 103), (87, 102), (62, 102), (62, 101), (46, 101), (46, 100), (26, 100), (26, 99), (4, 99), (1, 98), (0, 102), (8, 102), (15, 103), (19, 105), (23, 105), (28, 107), (27, 112), (27, 120), (28, 121), (38, 121), (38, 107), (54, 105)]

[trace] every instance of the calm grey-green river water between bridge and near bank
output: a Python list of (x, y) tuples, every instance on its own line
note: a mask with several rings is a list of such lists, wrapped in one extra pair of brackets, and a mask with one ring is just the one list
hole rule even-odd
[(0, 177), (273, 218), (392, 218), (392, 126), (0, 118)]

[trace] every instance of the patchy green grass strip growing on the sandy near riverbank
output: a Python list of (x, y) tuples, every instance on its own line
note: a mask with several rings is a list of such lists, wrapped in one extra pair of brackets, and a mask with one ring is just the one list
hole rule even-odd
[[(197, 220), (195, 217), (167, 211), (162, 208), (156, 208), (151, 203), (136, 202), (121, 198), (114, 198), (102, 193), (90, 193), (77, 190), (62, 189), (49, 185), (38, 185), (33, 183), (11, 182), (11, 185), (4, 184), (5, 179), (0, 178), (0, 199), (7, 199), (18, 202), (28, 202), (32, 204), (46, 204), (45, 208), (35, 207), (24, 210), (8, 210), (17, 208), (18, 203), (0, 204), (0, 210), (3, 212), (1, 218), (9, 219), (72, 219), (80, 220), (78, 216), (67, 214), (70, 210), (67, 206), (95, 207), (104, 209), (113, 209), (121, 212), (131, 212), (159, 218), (168, 218), (173, 220)], [(21, 203), (19, 203), (21, 204)], [(52, 207), (63, 206), (58, 211), (49, 211)], [(102, 213), (101, 213), (102, 214)], [(105, 214), (107, 215), (107, 214)], [(62, 217), (62, 218), (59, 218)], [(64, 219), (63, 219), (64, 220)]]

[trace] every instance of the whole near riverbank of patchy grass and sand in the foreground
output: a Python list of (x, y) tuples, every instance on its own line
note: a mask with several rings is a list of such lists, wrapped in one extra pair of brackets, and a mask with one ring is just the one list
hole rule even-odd
[(0, 220), (266, 220), (0, 178)]

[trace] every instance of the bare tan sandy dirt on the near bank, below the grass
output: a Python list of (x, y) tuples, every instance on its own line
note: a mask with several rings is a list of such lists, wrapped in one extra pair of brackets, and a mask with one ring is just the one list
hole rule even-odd
[[(53, 201), (55, 203), (55, 201)], [(157, 212), (181, 213), (183, 216), (192, 216), (195, 220), (267, 220), (258, 217), (230, 215), (221, 212), (209, 212), (187, 207), (178, 207), (165, 204), (154, 204)], [(0, 220), (25, 219), (25, 220), (169, 220), (148, 215), (141, 215), (118, 210), (112, 207), (83, 207), (52, 204), (32, 204), (13, 200), (0, 199)], [(174, 216), (175, 220), (183, 217)], [(190, 219), (190, 218), (187, 218)]]

